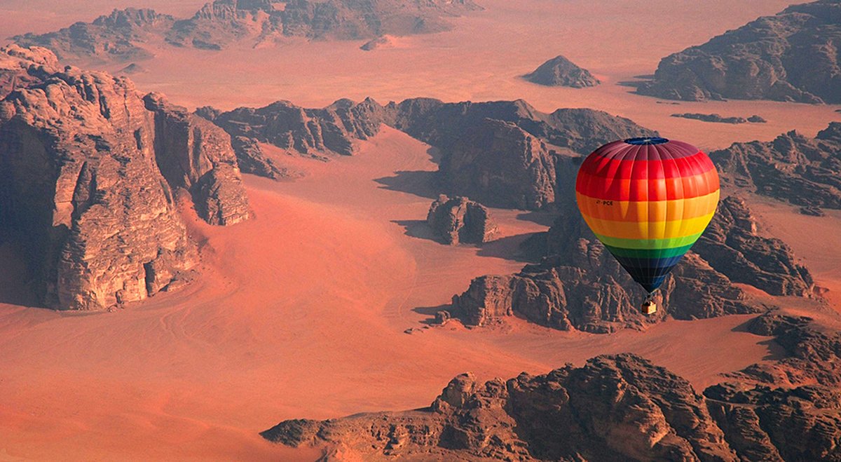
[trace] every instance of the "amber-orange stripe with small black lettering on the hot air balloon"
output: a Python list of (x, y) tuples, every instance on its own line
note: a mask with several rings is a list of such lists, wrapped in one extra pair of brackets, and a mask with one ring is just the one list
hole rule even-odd
[(719, 191), (690, 199), (602, 200), (576, 193), (583, 215), (613, 221), (686, 220), (709, 215), (716, 210)]

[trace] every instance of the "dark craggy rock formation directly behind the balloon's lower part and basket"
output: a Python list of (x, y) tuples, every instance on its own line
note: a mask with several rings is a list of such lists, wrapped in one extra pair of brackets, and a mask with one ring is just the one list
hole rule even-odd
[(667, 314), (698, 319), (764, 311), (733, 283), (772, 295), (812, 296), (812, 276), (791, 248), (759, 235), (747, 205), (727, 197), (693, 252), (659, 289), (658, 313), (643, 316), (637, 307), (643, 290), (595, 240), (574, 204), (558, 207), (561, 215), (549, 231), (526, 242), (542, 262), (512, 275), (473, 279), (453, 296), (453, 317), (482, 326), (521, 316), (546, 327), (606, 333), (644, 328)]

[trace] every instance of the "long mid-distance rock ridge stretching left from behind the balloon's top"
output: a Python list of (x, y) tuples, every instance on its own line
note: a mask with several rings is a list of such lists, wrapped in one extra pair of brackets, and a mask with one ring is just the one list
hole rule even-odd
[(283, 169), (259, 143), (311, 157), (352, 155), (357, 140), (389, 125), (442, 151), (439, 179), (445, 192), (521, 209), (554, 202), (553, 151), (589, 153), (607, 141), (656, 135), (605, 112), (558, 109), (544, 114), (522, 100), (443, 103), (412, 98), (383, 106), (371, 98), (358, 104), (341, 99), (323, 109), (278, 101), (225, 113), (200, 108), (197, 114), (228, 131), (246, 172), (269, 178), (283, 177)]

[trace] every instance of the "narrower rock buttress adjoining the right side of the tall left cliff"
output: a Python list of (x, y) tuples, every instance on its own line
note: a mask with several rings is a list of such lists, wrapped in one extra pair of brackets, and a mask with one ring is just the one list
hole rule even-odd
[(248, 218), (248, 198), (225, 130), (151, 93), (146, 109), (155, 113), (155, 155), (167, 183), (193, 195), (198, 215), (211, 225)]

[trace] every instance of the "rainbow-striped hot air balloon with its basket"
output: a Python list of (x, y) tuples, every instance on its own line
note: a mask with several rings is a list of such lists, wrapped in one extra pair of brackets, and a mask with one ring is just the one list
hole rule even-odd
[(584, 221), (613, 257), (653, 293), (712, 220), (718, 172), (697, 147), (659, 137), (613, 141), (584, 159), (575, 181)]

